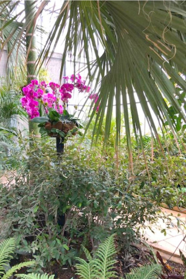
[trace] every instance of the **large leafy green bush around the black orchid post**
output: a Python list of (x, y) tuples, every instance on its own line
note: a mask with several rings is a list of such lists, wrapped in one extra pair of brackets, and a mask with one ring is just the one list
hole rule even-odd
[[(134, 197), (127, 171), (118, 175), (113, 159), (101, 156), (99, 148), (71, 139), (59, 157), (52, 138), (33, 139), (32, 152), (27, 147), (25, 141), (15, 153), (19, 169), (9, 178), (10, 187), (0, 187), (0, 208), (6, 207), (0, 235), (15, 235), (17, 248), (32, 252), (38, 267), (53, 260), (72, 264), (79, 239), (96, 246), (114, 232), (129, 250), (145, 220), (156, 219), (153, 202)], [(124, 161), (126, 166), (127, 156)], [(63, 228), (57, 224), (62, 214)]]

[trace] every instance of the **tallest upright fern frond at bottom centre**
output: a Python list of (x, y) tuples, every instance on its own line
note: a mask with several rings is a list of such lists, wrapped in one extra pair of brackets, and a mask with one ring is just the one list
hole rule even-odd
[(95, 264), (99, 267), (99, 278), (117, 277), (116, 272), (111, 271), (116, 263), (116, 260), (113, 259), (114, 254), (116, 254), (114, 235), (111, 235), (99, 245), (95, 252)]

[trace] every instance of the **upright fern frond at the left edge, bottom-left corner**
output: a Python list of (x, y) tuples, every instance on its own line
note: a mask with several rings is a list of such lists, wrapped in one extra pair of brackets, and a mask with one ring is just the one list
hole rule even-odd
[(0, 274), (4, 274), (5, 266), (12, 259), (15, 251), (15, 239), (5, 239), (0, 243)]

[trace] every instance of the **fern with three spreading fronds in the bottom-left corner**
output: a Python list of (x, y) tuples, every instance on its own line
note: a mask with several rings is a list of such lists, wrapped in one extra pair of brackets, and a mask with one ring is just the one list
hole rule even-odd
[[(6, 267), (9, 267), (10, 260), (13, 259), (13, 253), (15, 252), (15, 239), (9, 238), (0, 243), (0, 277), (2, 279), (9, 279), (15, 272), (23, 267), (33, 265), (35, 261), (29, 261), (16, 264), (6, 271)], [(21, 279), (54, 279), (54, 275), (48, 274), (17, 274), (15, 275)]]

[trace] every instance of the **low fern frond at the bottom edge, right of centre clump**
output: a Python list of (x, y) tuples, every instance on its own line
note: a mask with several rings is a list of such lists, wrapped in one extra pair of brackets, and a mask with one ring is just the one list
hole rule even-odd
[(132, 274), (126, 274), (126, 279), (157, 279), (162, 271), (159, 264), (144, 265), (141, 268), (132, 269)]

